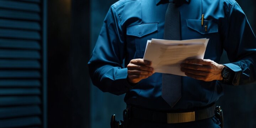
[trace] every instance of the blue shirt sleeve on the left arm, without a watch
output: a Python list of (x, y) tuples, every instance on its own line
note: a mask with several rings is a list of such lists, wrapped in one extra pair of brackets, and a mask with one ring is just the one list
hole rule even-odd
[(115, 95), (124, 94), (132, 88), (127, 81), (127, 68), (122, 66), (126, 50), (120, 23), (116, 10), (111, 6), (88, 63), (92, 83), (103, 92)]

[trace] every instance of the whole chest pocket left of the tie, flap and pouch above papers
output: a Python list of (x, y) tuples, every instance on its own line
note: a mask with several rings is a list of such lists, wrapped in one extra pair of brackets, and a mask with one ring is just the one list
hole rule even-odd
[(146, 42), (157, 38), (158, 23), (143, 23), (127, 27), (127, 43), (135, 44), (137, 58), (143, 58)]

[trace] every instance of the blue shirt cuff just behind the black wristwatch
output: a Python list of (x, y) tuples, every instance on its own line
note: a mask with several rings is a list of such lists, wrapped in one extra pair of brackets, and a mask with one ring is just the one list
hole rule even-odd
[(230, 84), (235, 85), (235, 86), (239, 85), (240, 76), (242, 74), (242, 69), (238, 65), (235, 65), (235, 64), (232, 64), (232, 63), (223, 64), (223, 65), (228, 67), (231, 71), (230, 80), (232, 80), (232, 81), (230, 81)]

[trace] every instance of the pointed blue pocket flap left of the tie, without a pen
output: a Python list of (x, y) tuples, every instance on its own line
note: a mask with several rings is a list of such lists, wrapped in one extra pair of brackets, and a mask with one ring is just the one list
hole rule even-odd
[(129, 36), (143, 37), (158, 30), (158, 23), (143, 23), (127, 27), (126, 34)]

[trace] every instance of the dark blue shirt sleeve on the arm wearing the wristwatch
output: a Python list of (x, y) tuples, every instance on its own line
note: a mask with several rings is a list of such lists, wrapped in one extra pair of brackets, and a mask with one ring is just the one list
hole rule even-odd
[(227, 13), (224, 49), (231, 63), (231, 85), (249, 84), (256, 80), (256, 37), (247, 18), (235, 3)]

